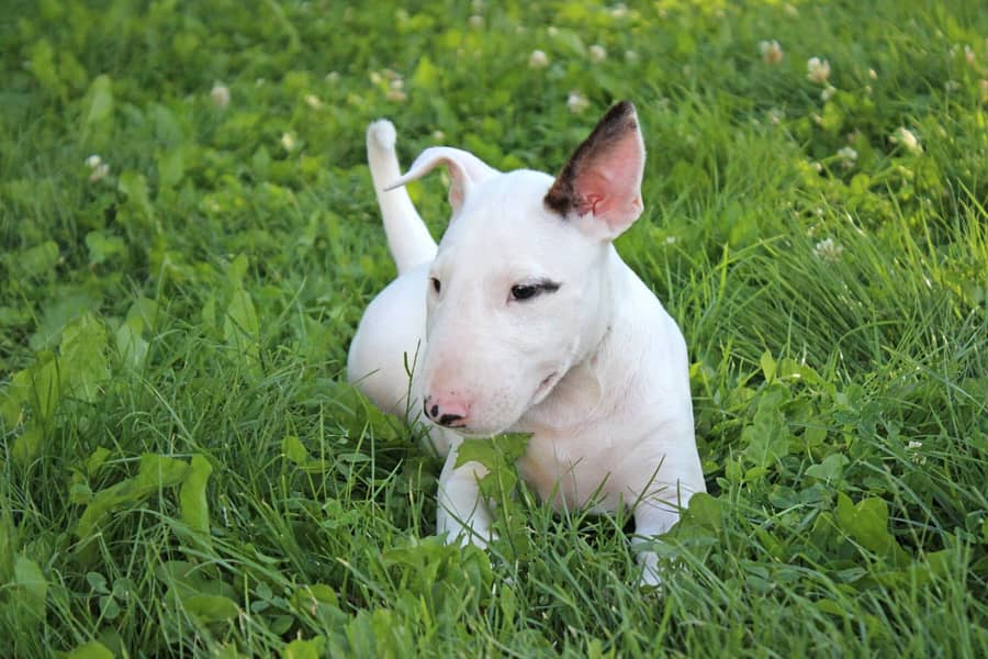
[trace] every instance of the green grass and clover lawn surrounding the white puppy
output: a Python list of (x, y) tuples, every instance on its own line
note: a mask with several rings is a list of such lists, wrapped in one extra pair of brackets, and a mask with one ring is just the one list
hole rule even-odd
[[(0, 655), (984, 656), (977, 2), (7, 4)], [(618, 248), (686, 334), (710, 491), (662, 593), (626, 516), (524, 489), (442, 546), (437, 460), (343, 373), (394, 275), (371, 120), (551, 171), (619, 98)]]

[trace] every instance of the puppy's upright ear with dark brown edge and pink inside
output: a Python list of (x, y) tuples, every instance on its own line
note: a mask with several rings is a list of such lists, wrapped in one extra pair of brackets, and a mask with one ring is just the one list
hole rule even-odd
[(580, 145), (546, 194), (546, 206), (563, 217), (592, 215), (595, 232), (613, 239), (643, 208), (644, 142), (635, 105), (621, 101), (607, 111)]

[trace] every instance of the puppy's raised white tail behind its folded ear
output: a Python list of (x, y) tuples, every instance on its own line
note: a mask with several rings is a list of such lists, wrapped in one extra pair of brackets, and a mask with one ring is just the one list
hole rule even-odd
[(408, 191), (404, 187), (388, 189), (402, 176), (394, 152), (395, 138), (394, 125), (386, 119), (375, 121), (367, 129), (367, 160), (384, 219), (388, 247), (401, 275), (436, 258), (436, 241), (412, 205)]

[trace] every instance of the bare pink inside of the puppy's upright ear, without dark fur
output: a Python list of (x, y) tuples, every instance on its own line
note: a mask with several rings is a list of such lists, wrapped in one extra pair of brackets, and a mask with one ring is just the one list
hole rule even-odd
[(644, 149), (637, 131), (591, 155), (576, 175), (577, 209), (592, 212), (614, 230), (624, 230), (641, 214)]

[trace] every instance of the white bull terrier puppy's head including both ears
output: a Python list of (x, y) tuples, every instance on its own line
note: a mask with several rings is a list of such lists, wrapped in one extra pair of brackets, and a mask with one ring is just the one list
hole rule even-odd
[(439, 165), (452, 217), (429, 272), (422, 403), (437, 423), (493, 435), (549, 396), (607, 332), (610, 242), (641, 214), (644, 145), (633, 105), (621, 102), (554, 179), (434, 147), (395, 186)]

